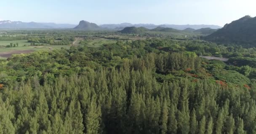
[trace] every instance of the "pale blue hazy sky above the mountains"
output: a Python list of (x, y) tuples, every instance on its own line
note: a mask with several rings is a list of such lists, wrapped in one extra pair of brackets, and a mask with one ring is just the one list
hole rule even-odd
[(256, 16), (256, 0), (0, 0), (0, 20), (215, 24)]

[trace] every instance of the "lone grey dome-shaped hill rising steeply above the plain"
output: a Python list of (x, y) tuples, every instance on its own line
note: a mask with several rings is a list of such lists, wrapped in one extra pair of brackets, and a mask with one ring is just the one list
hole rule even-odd
[(77, 30), (101, 30), (101, 27), (99, 27), (95, 23), (90, 23), (88, 21), (80, 21), (78, 26), (76, 26), (74, 29), (77, 29)]

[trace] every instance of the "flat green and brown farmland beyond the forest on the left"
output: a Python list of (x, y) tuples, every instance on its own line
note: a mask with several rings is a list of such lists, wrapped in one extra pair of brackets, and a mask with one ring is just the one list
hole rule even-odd
[[(5, 31), (0, 34), (0, 58), (6, 59), (12, 54), (27, 54), (35, 51), (53, 51), (71, 46), (100, 47), (103, 44), (115, 44), (117, 41), (133, 41), (146, 37), (125, 34), (119, 35), (97, 32), (75, 31)], [(23, 39), (23, 40), (19, 40)], [(11, 44), (13, 46), (11, 46)], [(14, 45), (15, 44), (15, 45)], [(18, 45), (16, 45), (18, 44)]]

